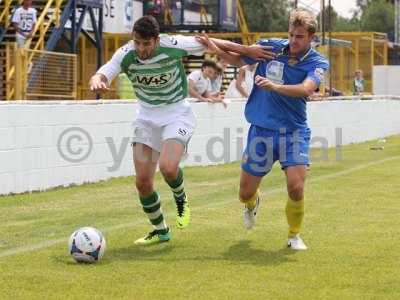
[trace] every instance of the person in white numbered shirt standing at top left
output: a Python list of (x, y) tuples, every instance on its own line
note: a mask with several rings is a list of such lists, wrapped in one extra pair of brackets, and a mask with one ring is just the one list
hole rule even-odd
[(15, 28), (18, 48), (22, 48), (26, 40), (32, 37), (37, 22), (37, 12), (32, 7), (32, 0), (24, 0), (22, 6), (14, 12), (11, 22)]

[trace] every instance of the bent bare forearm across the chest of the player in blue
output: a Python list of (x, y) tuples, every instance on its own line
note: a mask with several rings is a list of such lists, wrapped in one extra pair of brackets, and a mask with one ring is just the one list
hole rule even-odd
[(317, 89), (317, 84), (311, 79), (305, 79), (300, 84), (277, 84), (265, 77), (257, 75), (254, 83), (263, 89), (289, 97), (309, 97)]

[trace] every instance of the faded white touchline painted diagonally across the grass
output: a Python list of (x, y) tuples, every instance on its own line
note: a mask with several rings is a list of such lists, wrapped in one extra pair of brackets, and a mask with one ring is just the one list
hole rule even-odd
[[(359, 165), (353, 168), (350, 168), (348, 170), (343, 170), (343, 171), (339, 171), (336, 173), (332, 173), (332, 174), (326, 174), (320, 177), (317, 177), (315, 179), (311, 178), (310, 180), (308, 180), (308, 184), (312, 184), (314, 182), (319, 182), (322, 180), (326, 180), (326, 179), (330, 179), (330, 178), (335, 178), (335, 177), (341, 177), (343, 175), (347, 175), (356, 171), (360, 171), (375, 165), (379, 165), (388, 161), (392, 161), (392, 160), (396, 160), (399, 159), (400, 156), (392, 156), (392, 157), (388, 157), (385, 159), (381, 159), (378, 161), (374, 161), (374, 162), (370, 162), (367, 164), (363, 164), (363, 165)], [(266, 193), (267, 195), (271, 195), (271, 194), (275, 194), (275, 193), (279, 193), (282, 191), (286, 191), (286, 187), (279, 187), (279, 188), (275, 188), (275, 189), (271, 189), (268, 190), (268, 192)], [(227, 200), (227, 201), (221, 201), (221, 202), (213, 202), (210, 204), (206, 204), (206, 205), (202, 205), (202, 206), (197, 206), (197, 207), (193, 207), (192, 210), (193, 211), (197, 211), (197, 210), (202, 210), (205, 208), (214, 208), (214, 207), (218, 207), (220, 205), (225, 205), (229, 202), (232, 202), (232, 199)], [(166, 214), (167, 217), (172, 217), (174, 215), (174, 213), (169, 213)], [(117, 229), (124, 229), (124, 228), (128, 228), (128, 227), (134, 227), (137, 225), (141, 225), (141, 224), (145, 224), (147, 222), (147, 220), (142, 220), (139, 222), (133, 222), (133, 223), (126, 223), (126, 224), (119, 224), (119, 225), (115, 225), (115, 226), (111, 226), (108, 229), (104, 230), (104, 232), (109, 232), (109, 231), (114, 231)], [(35, 245), (27, 245), (27, 246), (22, 246), (22, 247), (15, 247), (15, 248), (11, 248), (9, 250), (5, 250), (3, 252), (0, 253), (0, 258), (4, 258), (4, 257), (8, 257), (8, 256), (13, 256), (13, 255), (17, 255), (17, 254), (21, 254), (21, 253), (25, 253), (25, 252), (32, 252), (32, 251), (36, 251), (36, 250), (42, 250), (60, 243), (66, 243), (68, 241), (68, 238), (60, 238), (60, 239), (55, 239), (55, 240), (48, 240), (48, 241), (43, 241), (40, 242), (38, 244)]]

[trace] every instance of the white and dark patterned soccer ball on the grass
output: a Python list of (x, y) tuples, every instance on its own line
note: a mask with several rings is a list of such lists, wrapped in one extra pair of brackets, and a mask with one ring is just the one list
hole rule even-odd
[(68, 250), (77, 262), (95, 263), (106, 250), (106, 240), (96, 228), (82, 227), (69, 238)]

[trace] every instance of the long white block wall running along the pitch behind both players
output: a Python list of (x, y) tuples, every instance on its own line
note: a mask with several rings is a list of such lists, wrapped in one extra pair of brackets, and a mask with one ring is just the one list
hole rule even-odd
[[(241, 159), (248, 128), (243, 117), (244, 104), (235, 101), (225, 110), (219, 104), (192, 103), (198, 128), (184, 165)], [(136, 103), (121, 101), (0, 103), (0, 194), (132, 175), (129, 138), (136, 109)], [(321, 145), (318, 137), (325, 138), (331, 147), (400, 133), (400, 101), (396, 100), (311, 102), (308, 115), (314, 147)], [(89, 134), (91, 149), (85, 136), (73, 136), (77, 133), (72, 132), (73, 127)], [(342, 130), (339, 139), (335, 128)], [(65, 130), (69, 131), (58, 149)], [(72, 142), (70, 149), (68, 137)], [(112, 153), (119, 153), (120, 149), (125, 153), (118, 166)], [(213, 154), (207, 154), (207, 149)], [(88, 150), (88, 157), (76, 163), (60, 154), (62, 151), (69, 159), (75, 159)]]

